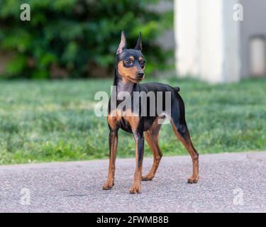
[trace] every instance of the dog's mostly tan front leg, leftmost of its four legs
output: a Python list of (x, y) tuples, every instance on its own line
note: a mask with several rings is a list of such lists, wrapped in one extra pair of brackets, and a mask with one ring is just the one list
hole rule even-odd
[(114, 182), (114, 173), (116, 170), (116, 150), (118, 144), (118, 131), (111, 130), (109, 133), (109, 171), (107, 181), (103, 186), (104, 190), (111, 189)]

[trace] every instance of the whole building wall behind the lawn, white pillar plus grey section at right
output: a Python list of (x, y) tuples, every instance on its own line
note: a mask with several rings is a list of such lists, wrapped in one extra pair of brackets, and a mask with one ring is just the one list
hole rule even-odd
[[(243, 21), (233, 20), (238, 3), (243, 5)], [(180, 76), (208, 82), (250, 76), (250, 38), (266, 37), (266, 0), (175, 0), (174, 11)]]

